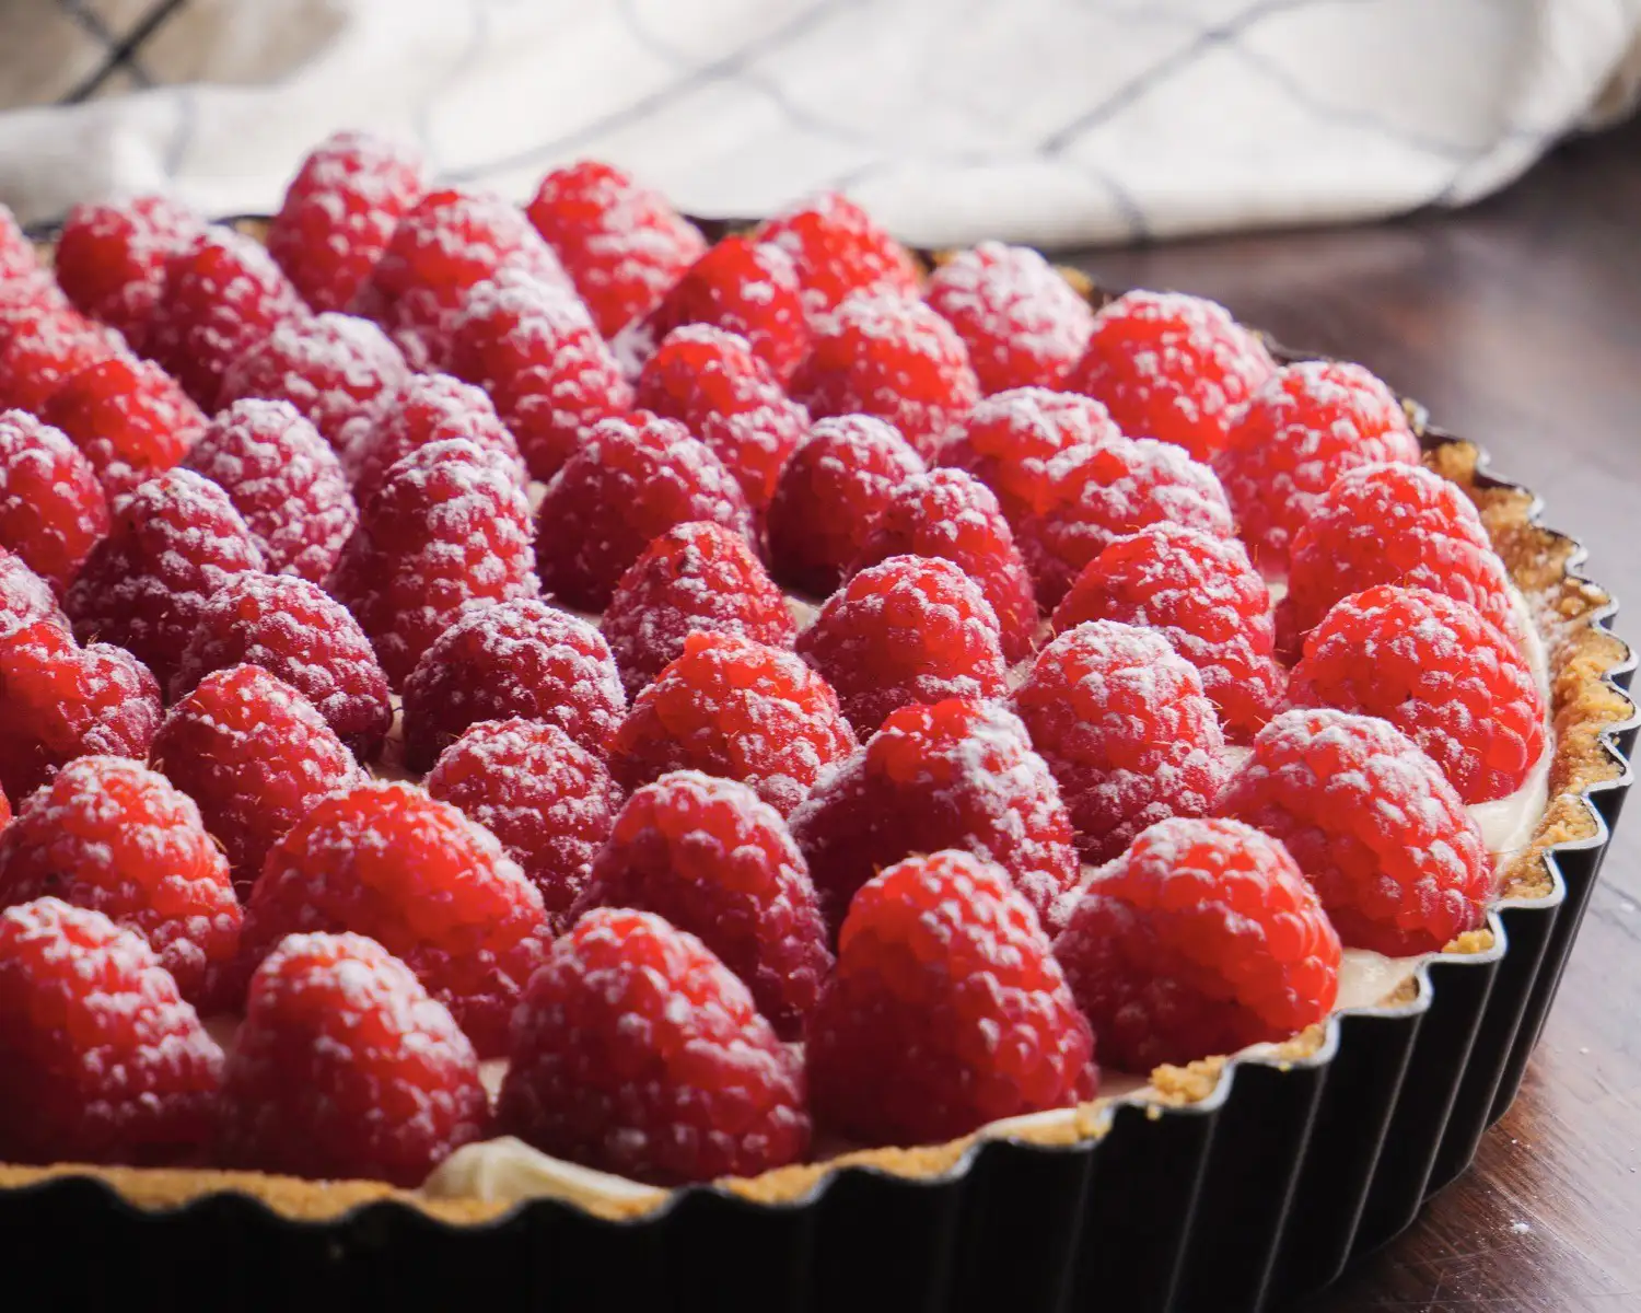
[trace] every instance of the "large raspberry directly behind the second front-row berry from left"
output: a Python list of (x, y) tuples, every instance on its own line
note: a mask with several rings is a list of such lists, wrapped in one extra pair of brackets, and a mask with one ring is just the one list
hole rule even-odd
[(507, 1018), (550, 940), (537, 891), (501, 844), (412, 785), (333, 793), (267, 853), (225, 993), (297, 931), (377, 940), (455, 1014), (479, 1057), (507, 1049)]

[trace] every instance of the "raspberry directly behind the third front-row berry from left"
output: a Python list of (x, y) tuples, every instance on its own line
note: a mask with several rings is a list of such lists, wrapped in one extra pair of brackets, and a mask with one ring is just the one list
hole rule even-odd
[(678, 770), (633, 793), (571, 917), (592, 908), (638, 908), (699, 937), (781, 1039), (802, 1037), (832, 970), (804, 855), (734, 780)]

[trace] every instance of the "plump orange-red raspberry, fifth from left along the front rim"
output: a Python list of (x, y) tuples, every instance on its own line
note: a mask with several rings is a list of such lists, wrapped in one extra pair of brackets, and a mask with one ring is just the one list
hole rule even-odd
[(1332, 1011), (1339, 936), (1288, 850), (1159, 821), (1088, 886), (1054, 955), (1099, 1057), (1150, 1072), (1288, 1039)]

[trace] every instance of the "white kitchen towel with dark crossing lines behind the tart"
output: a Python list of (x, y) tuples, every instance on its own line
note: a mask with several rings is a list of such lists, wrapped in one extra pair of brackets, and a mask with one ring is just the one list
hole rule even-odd
[(1063, 246), (1464, 204), (1638, 77), (1641, 0), (5, 0), (0, 200), (266, 212), (364, 126), (520, 200), (594, 156)]

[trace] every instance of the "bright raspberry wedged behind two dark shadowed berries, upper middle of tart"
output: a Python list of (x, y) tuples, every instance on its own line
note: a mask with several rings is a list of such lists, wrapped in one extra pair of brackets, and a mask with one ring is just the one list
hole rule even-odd
[(724, 461), (758, 512), (770, 504), (781, 466), (809, 428), (809, 414), (788, 400), (747, 340), (704, 323), (668, 335), (645, 363), (635, 400), (688, 425)]

